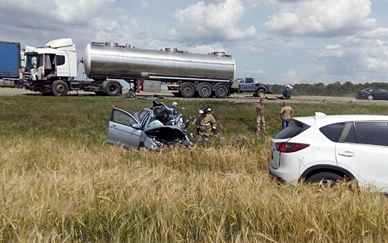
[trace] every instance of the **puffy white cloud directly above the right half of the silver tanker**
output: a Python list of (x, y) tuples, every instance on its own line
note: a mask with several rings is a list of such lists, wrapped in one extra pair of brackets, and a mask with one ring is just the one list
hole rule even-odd
[(238, 22), (243, 18), (244, 6), (239, 0), (206, 0), (174, 12), (177, 25), (168, 35), (180, 40), (204, 43), (236, 41), (252, 37), (256, 28), (241, 29)]

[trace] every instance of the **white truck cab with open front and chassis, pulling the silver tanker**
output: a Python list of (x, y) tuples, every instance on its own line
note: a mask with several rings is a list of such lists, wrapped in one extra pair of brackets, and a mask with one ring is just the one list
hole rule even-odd
[(26, 47), (26, 78), (28, 90), (64, 96), (71, 90), (83, 90), (96, 94), (118, 96), (122, 93), (118, 81), (107, 77), (95, 81), (76, 81), (76, 44), (71, 38), (52, 40), (44, 47)]

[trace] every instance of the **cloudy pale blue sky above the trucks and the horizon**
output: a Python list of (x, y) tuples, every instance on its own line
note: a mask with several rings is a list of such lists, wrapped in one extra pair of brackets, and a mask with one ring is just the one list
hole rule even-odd
[[(0, 40), (224, 51), (270, 84), (388, 81), (388, 0), (1, 0)], [(85, 79), (80, 65), (78, 78)]]

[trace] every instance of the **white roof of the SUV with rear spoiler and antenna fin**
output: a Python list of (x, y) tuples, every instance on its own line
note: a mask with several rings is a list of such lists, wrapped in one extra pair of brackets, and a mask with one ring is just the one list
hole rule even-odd
[(323, 113), (310, 117), (294, 117), (294, 120), (300, 121), (308, 126), (319, 124), (325, 126), (346, 121), (387, 121), (388, 115), (324, 115)]

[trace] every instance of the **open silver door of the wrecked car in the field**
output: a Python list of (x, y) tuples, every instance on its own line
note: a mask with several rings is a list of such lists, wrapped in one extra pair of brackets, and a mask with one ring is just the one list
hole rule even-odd
[(141, 133), (141, 124), (130, 113), (118, 108), (112, 109), (107, 143), (138, 148)]

